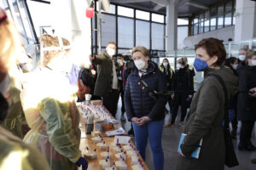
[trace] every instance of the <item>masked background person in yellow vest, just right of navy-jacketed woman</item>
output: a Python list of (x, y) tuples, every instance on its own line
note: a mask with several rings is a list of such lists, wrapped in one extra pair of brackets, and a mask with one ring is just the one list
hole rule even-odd
[[(170, 91), (172, 89), (172, 77), (174, 75), (174, 71), (172, 70), (171, 65), (169, 64), (169, 60), (168, 59), (163, 59), (162, 64), (159, 67), (160, 71), (162, 71), (164, 73), (164, 75), (166, 75), (166, 82), (167, 82), (167, 89)], [(171, 96), (168, 98), (168, 104), (170, 107), (170, 113), (172, 111), (172, 98)], [(165, 127), (168, 125), (165, 125)]]

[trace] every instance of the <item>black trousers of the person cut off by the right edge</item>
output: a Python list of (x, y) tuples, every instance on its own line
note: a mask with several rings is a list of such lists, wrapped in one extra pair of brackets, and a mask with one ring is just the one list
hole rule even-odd
[(251, 144), (254, 121), (241, 121), (240, 143)]

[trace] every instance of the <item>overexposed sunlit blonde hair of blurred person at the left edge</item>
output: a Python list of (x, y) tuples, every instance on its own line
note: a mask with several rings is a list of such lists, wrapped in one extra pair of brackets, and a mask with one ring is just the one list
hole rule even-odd
[(20, 35), (14, 23), (8, 19), (0, 23), (0, 71), (9, 71), (16, 64), (17, 55), (21, 53)]

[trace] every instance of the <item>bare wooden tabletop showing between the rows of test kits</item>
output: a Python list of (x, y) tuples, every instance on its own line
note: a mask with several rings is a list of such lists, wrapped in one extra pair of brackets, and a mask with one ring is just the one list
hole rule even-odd
[[(96, 120), (97, 121), (97, 120)], [(85, 122), (83, 120), (83, 117), (81, 117), (80, 122), (82, 124), (81, 130), (84, 136), (85, 134)], [(119, 124), (114, 124), (115, 129), (121, 127)], [(96, 130), (96, 127), (95, 127)], [(107, 146), (109, 146), (111, 143), (113, 143), (114, 137), (107, 137), (102, 135), (102, 139), (104, 139), (104, 141), (106, 142)], [(131, 142), (132, 144), (132, 142)], [(134, 144), (133, 144), (134, 146)], [(85, 158), (86, 161), (88, 161), (88, 170), (102, 170), (102, 166), (99, 164), (99, 161), (102, 159), (101, 158), (101, 152), (107, 151), (107, 150), (100, 150), (100, 148), (96, 147), (96, 143), (91, 139), (91, 135), (90, 134), (85, 134), (85, 138), (81, 138), (80, 140), (80, 150), (86, 150), (86, 147), (89, 148), (89, 150), (93, 151), (96, 149), (96, 154), (97, 154), (97, 158), (94, 160), (90, 160), (88, 158)], [(109, 152), (110, 152), (110, 162), (111, 162), (111, 166), (113, 165), (113, 161), (118, 161), (115, 158), (115, 153), (112, 150), (112, 147), (109, 147)], [(145, 162), (143, 161), (143, 158), (139, 155), (139, 159), (140, 159), (140, 164), (143, 164), (143, 168), (144, 170), (148, 170), (148, 166), (145, 164)], [(126, 161), (125, 161), (126, 165), (127, 165), (127, 170), (131, 170), (131, 158), (129, 156), (126, 155)]]

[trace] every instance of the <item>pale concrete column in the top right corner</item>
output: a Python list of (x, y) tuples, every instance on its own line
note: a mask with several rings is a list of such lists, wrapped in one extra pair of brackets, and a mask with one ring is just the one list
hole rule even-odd
[(236, 0), (235, 41), (256, 37), (256, 3), (251, 0)]

